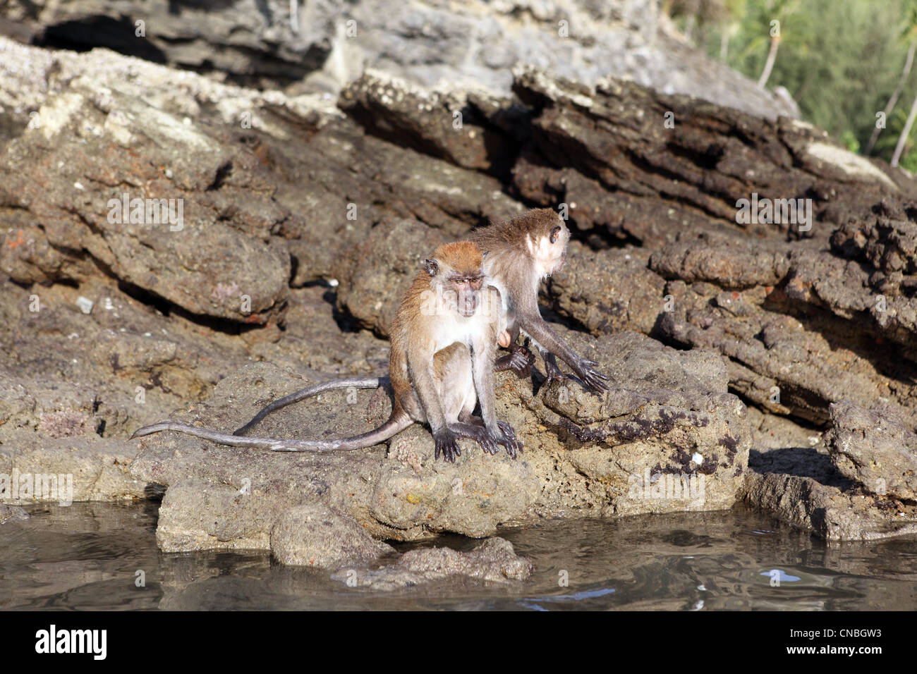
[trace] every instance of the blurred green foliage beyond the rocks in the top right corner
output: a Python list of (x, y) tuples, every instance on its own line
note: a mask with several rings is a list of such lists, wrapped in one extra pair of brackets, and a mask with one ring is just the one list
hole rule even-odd
[[(777, 60), (767, 87), (786, 87), (801, 115), (850, 149), (865, 147), (898, 83), (911, 39), (917, 39), (917, 0), (724, 0), (724, 10), (696, 18), (693, 38), (719, 59), (757, 80), (764, 69), (774, 20)], [(683, 7), (681, 25), (684, 25)], [(715, 15), (715, 16), (713, 16)], [(873, 154), (891, 158), (917, 96), (917, 63)], [(899, 121), (900, 120), (900, 121)], [(917, 124), (911, 138), (917, 135)], [(917, 144), (900, 164), (917, 160)]]

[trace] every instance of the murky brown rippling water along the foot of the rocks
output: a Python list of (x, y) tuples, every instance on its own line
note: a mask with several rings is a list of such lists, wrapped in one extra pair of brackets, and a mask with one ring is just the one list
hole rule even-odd
[[(532, 580), (392, 592), (351, 589), (327, 571), (284, 568), (261, 552), (160, 553), (157, 510), (35, 506), (31, 519), (0, 525), (0, 609), (917, 609), (914, 536), (829, 547), (744, 506), (504, 530), (532, 558)], [(145, 587), (135, 584), (138, 570)], [(568, 587), (558, 586), (562, 570)]]

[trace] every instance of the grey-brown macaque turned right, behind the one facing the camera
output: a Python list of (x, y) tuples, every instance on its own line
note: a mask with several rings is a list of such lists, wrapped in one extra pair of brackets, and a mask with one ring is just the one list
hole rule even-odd
[[(547, 379), (566, 377), (558, 368), (555, 355), (566, 362), (591, 392), (608, 389), (605, 375), (593, 369), (594, 360), (581, 358), (558, 336), (538, 309), (538, 286), (564, 266), (570, 233), (563, 219), (550, 208), (537, 208), (512, 220), (493, 222), (471, 232), (471, 241), (484, 252), (484, 269), (488, 282), (503, 298), (503, 321), (508, 332), (511, 353), (496, 363), (497, 370), (512, 368), (527, 374), (525, 361), (534, 357), (515, 341), (520, 331), (531, 337), (545, 361)], [(505, 341), (506, 337), (503, 337)], [(503, 341), (501, 346), (503, 346)]]

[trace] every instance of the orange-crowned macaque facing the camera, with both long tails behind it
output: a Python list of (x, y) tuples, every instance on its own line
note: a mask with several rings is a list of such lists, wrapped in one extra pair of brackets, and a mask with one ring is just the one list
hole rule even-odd
[[(180, 431), (231, 447), (258, 447), (275, 451), (326, 452), (377, 445), (413, 422), (430, 425), (440, 452), (455, 462), (461, 452), (458, 438), (478, 442), (491, 454), (503, 445), (515, 459), (522, 450), (514, 429), (497, 420), (493, 398), (493, 364), (498, 340), (509, 336), (500, 324), (502, 300), (488, 285), (483, 255), (470, 241), (448, 243), (436, 249), (404, 294), (392, 323), (389, 377), (394, 393), (392, 414), (379, 428), (339, 440), (281, 440), (239, 434), (266, 414), (285, 404), (321, 392), (343, 388), (375, 388), (384, 377), (326, 381), (286, 396), (265, 409), (249, 424), (227, 435), (192, 425), (162, 422), (140, 428), (132, 437), (163, 430)], [(481, 418), (472, 415), (481, 404)]]

